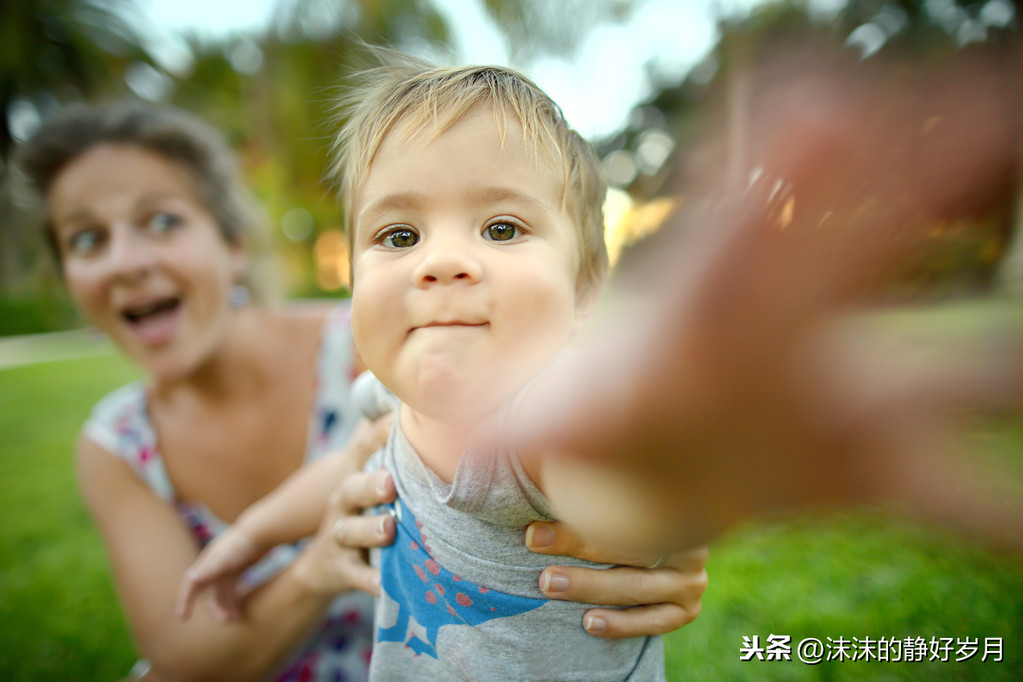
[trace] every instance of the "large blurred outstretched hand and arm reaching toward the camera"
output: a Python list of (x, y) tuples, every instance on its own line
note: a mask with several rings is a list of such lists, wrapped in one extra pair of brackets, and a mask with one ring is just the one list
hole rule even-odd
[(911, 87), (807, 63), (776, 67), (751, 124), (743, 155), (767, 180), (675, 216), (647, 264), (654, 313), (591, 356), (537, 441), (543, 488), (565, 520), (634, 546), (865, 503), (1018, 548), (1023, 505), (977, 481), (953, 417), (1019, 405), (1023, 339), (928, 365), (843, 319), (934, 223), (1013, 191), (1018, 63), (963, 57)]

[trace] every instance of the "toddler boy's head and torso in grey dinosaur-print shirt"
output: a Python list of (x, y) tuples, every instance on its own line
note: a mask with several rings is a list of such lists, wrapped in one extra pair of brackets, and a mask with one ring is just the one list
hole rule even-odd
[[(509, 70), (393, 59), (361, 80), (333, 171), (353, 332), (375, 376), (356, 398), (370, 413), (397, 410), (369, 466), (387, 467), (399, 495), (371, 677), (662, 679), (660, 638), (586, 634), (588, 606), (546, 599), (537, 579), (549, 558), (522, 543), (568, 494), (513, 441), (607, 271), (592, 148)], [(308, 496), (292, 488), (274, 497), (278, 527), (287, 500)], [(237, 532), (271, 541), (252, 524)]]

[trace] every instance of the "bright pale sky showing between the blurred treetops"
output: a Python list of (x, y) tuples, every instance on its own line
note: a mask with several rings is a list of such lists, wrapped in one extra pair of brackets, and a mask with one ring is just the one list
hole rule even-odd
[[(646, 64), (680, 80), (716, 41), (714, 17), (747, 11), (762, 0), (641, 0), (626, 22), (597, 26), (569, 59), (546, 57), (521, 65), (590, 139), (609, 137), (653, 86)], [(278, 0), (150, 0), (140, 3), (157, 50), (173, 64), (182, 49), (176, 32), (207, 36), (265, 29)], [(457, 57), (465, 63), (507, 63), (504, 38), (480, 0), (433, 0), (449, 20)], [(813, 0), (825, 8), (842, 0)], [(159, 55), (157, 55), (159, 58)], [(180, 54), (178, 54), (180, 56)]]

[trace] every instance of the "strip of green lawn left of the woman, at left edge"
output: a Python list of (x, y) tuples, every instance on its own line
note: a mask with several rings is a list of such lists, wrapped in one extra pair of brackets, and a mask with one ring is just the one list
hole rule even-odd
[(0, 680), (115, 680), (134, 651), (73, 451), (113, 357), (0, 370)]

